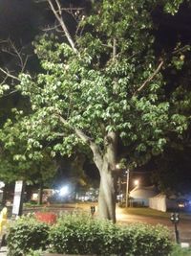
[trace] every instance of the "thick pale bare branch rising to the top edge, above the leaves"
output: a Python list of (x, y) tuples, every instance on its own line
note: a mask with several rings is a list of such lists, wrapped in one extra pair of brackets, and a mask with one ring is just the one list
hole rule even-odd
[(60, 24), (60, 26), (61, 26), (61, 28), (62, 28), (64, 34), (66, 35), (66, 37), (67, 37), (67, 39), (68, 39), (68, 41), (69, 41), (69, 43), (70, 43), (72, 49), (74, 50), (74, 53), (77, 53), (77, 50), (76, 50), (76, 48), (75, 48), (75, 46), (74, 46), (74, 40), (73, 40), (72, 36), (70, 35), (70, 33), (69, 33), (69, 31), (68, 31), (68, 29), (67, 29), (67, 27), (66, 27), (66, 25), (65, 25), (65, 22), (64, 22), (64, 20), (63, 20), (63, 17), (62, 17), (62, 10), (61, 10), (60, 3), (59, 3), (58, 0), (55, 0), (55, 1), (56, 1), (56, 5), (57, 5), (57, 8), (58, 8), (58, 10), (55, 10), (52, 1), (53, 1), (53, 0), (48, 0), (48, 3), (49, 3), (49, 5), (50, 5), (50, 7), (51, 7), (51, 10), (53, 11), (53, 14), (54, 14), (55, 18), (58, 20), (58, 22), (59, 22), (59, 24)]

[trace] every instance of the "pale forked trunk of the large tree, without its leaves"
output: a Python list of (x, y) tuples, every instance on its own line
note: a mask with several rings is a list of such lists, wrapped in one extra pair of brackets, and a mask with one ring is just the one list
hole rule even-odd
[[(60, 116), (60, 121), (66, 121)], [(99, 217), (116, 222), (116, 166), (117, 166), (117, 140), (115, 131), (110, 131), (104, 136), (104, 149), (96, 145), (93, 139), (87, 136), (81, 129), (74, 128), (76, 135), (89, 145), (94, 155), (94, 162), (100, 174), (100, 186), (98, 197)]]

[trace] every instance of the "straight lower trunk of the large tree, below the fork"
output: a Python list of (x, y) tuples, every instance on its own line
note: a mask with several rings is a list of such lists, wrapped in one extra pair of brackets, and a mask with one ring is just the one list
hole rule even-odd
[(107, 168), (100, 173), (98, 214), (101, 219), (116, 222), (116, 178)]

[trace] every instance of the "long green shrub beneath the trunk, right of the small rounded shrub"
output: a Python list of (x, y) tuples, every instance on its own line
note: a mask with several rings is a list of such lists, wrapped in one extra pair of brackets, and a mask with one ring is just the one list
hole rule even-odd
[(118, 256), (167, 256), (172, 244), (164, 227), (122, 227), (82, 215), (65, 215), (50, 231), (52, 252)]

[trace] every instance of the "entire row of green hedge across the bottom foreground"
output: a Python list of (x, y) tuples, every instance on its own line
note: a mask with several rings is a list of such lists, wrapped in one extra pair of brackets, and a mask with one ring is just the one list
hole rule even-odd
[(47, 248), (53, 253), (101, 256), (167, 256), (172, 251), (163, 226), (121, 226), (78, 214), (60, 216), (52, 226), (21, 218), (12, 223), (7, 243), (10, 256)]

